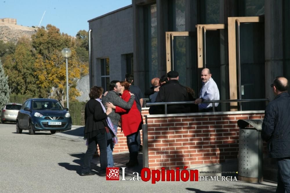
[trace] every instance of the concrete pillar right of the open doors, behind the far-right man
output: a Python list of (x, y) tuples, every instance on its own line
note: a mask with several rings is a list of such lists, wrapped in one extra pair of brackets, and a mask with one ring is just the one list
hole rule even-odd
[(270, 85), (283, 76), (283, 2), (265, 1), (265, 94), (274, 99)]

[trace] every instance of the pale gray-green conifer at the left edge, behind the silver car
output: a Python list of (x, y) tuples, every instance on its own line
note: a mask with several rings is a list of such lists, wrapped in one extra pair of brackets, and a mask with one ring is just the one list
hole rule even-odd
[(9, 102), (9, 92), (8, 76), (5, 75), (2, 61), (0, 59), (0, 109), (2, 109), (6, 103)]

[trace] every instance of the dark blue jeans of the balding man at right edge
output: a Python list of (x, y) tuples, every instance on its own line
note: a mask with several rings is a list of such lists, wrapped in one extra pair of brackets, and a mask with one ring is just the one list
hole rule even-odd
[(290, 192), (290, 158), (278, 158), (278, 184), (276, 193)]

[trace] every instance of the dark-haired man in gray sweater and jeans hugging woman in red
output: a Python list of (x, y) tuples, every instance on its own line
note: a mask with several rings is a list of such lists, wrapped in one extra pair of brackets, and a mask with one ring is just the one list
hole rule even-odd
[[(115, 106), (119, 106), (123, 109), (131, 109), (133, 102), (135, 100), (134, 94), (131, 94), (131, 98), (128, 102), (121, 99), (119, 93), (121, 91), (121, 84), (120, 81), (111, 81), (109, 85), (109, 92), (102, 98), (102, 103), (106, 107), (106, 103), (111, 102)], [(115, 109), (108, 116), (114, 126), (115, 132), (117, 133), (118, 123), (121, 118), (120, 114), (115, 112)], [(114, 167), (114, 160), (113, 160), (113, 148), (114, 143), (113, 139), (109, 139), (107, 141), (107, 159), (108, 159), (108, 167)]]

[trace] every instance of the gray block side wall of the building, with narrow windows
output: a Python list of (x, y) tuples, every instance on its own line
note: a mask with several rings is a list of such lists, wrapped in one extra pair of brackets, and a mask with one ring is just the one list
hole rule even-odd
[(101, 59), (110, 60), (110, 81), (124, 80), (126, 55), (133, 53), (132, 6), (89, 20), (92, 85), (101, 86)]

